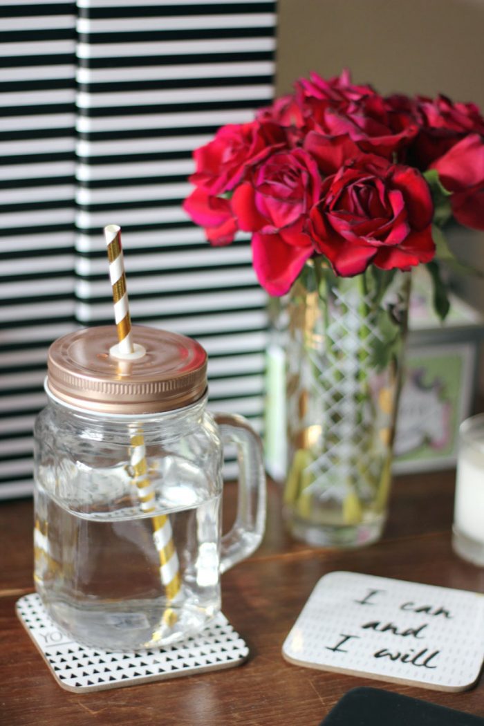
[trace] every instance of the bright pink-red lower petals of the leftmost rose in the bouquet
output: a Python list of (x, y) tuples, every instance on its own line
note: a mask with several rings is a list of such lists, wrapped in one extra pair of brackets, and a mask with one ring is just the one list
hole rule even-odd
[(203, 189), (194, 189), (183, 208), (195, 224), (205, 228), (206, 237), (213, 245), (229, 245), (234, 241), (237, 223), (229, 200), (213, 197)]

